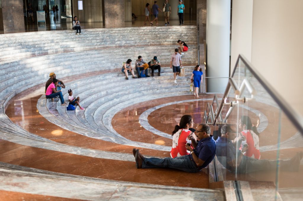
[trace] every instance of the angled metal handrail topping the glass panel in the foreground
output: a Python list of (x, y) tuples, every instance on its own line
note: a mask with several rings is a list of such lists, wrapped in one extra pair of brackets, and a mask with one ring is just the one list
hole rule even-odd
[[(297, 113), (293, 108), (289, 107), (289, 104), (278, 94), (278, 92), (272, 88), (272, 86), (265, 80), (265, 78), (259, 73), (253, 65), (242, 55), (239, 54), (234, 71), (231, 75), (231, 78), (234, 76), (236, 68), (238, 66), (239, 60), (245, 64), (246, 68), (251, 72), (252, 75), (259, 81), (262, 87), (268, 92), (268, 94), (272, 97), (272, 99), (278, 104), (281, 110), (285, 113), (288, 119), (295, 125), (299, 132), (303, 135), (303, 118), (300, 114)], [(231, 89), (230, 82), (228, 82), (227, 87), (225, 89), (218, 113), (216, 114), (215, 121), (213, 125), (216, 124), (216, 120), (219, 118), (219, 115), (222, 112), (223, 104), (227, 98), (227, 95)], [(253, 91), (253, 89), (251, 89)]]

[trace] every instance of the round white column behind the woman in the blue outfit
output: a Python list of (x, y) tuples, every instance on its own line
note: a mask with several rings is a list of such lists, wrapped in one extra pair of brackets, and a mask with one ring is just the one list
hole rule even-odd
[[(229, 76), (230, 0), (207, 0), (207, 63), (208, 77)], [(224, 92), (228, 79), (208, 79), (208, 92)]]

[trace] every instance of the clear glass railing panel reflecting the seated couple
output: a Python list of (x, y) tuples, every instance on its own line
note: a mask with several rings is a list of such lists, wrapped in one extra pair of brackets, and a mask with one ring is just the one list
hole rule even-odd
[[(302, 198), (301, 127), (244, 63), (240, 59), (232, 76), (238, 88), (229, 91), (227, 102), (233, 101), (233, 110), (224, 106), (228, 124), (216, 140), (223, 178), (248, 181), (255, 200), (265, 194), (275, 200)], [(260, 188), (266, 189), (263, 194)]]

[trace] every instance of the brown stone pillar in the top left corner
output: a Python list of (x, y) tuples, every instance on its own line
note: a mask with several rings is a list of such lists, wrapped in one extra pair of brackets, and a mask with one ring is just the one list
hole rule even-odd
[[(4, 33), (25, 31), (22, 0), (2, 0)], [(0, 23), (1, 24), (1, 23)]]

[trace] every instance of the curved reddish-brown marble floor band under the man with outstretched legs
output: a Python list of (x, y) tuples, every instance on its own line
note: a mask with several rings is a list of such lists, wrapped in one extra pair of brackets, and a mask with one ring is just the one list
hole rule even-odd
[[(6, 146), (15, 144), (4, 140), (2, 143), (6, 143)], [(24, 145), (0, 154), (0, 161), (41, 170), (109, 180), (209, 188), (207, 169), (195, 174), (165, 168), (136, 169), (135, 162), (92, 158)]]

